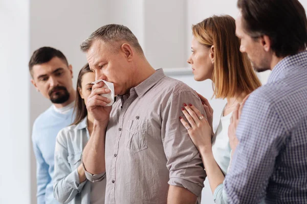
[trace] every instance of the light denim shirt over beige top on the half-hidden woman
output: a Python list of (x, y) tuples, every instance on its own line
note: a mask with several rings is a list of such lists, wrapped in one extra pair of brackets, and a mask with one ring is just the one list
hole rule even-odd
[[(86, 117), (77, 125), (62, 129), (56, 137), (54, 154), (54, 196), (60, 203), (103, 204), (105, 174), (98, 181), (80, 183), (78, 166), (83, 148), (90, 139)], [(98, 162), (98, 161), (97, 161)]]

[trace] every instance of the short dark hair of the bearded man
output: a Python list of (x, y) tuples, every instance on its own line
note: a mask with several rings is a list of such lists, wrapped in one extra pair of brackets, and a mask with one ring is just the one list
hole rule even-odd
[(32, 68), (34, 65), (49, 62), (54, 57), (60, 58), (68, 66), (68, 61), (60, 50), (53, 47), (40, 47), (36, 49), (29, 61), (29, 71), (31, 76), (33, 77)]

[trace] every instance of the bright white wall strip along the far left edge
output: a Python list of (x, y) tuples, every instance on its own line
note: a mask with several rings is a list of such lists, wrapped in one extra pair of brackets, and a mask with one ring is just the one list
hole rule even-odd
[(30, 203), (29, 1), (0, 1), (0, 203)]

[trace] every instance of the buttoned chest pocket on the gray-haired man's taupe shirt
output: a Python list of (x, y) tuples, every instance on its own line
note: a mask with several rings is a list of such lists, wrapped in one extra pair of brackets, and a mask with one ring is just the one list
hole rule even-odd
[(125, 149), (138, 152), (148, 147), (147, 144), (148, 120), (128, 120), (125, 135)]

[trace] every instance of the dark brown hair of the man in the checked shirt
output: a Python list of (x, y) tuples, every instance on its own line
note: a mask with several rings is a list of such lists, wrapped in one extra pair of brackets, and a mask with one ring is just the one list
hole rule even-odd
[(306, 49), (307, 19), (298, 0), (238, 0), (244, 31), (252, 38), (269, 36), (277, 57)]

